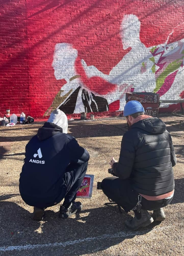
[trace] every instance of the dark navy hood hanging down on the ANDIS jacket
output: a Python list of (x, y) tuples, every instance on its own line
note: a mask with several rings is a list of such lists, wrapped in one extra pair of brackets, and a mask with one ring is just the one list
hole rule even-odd
[(38, 129), (37, 138), (40, 141), (46, 140), (57, 133), (62, 133), (63, 129), (54, 123), (44, 123), (44, 125)]

